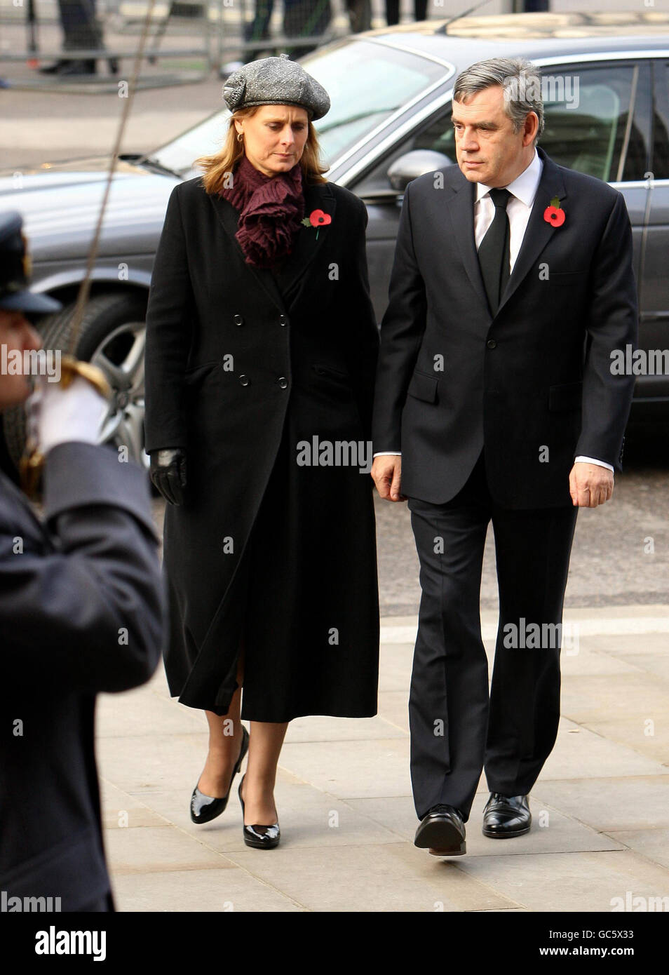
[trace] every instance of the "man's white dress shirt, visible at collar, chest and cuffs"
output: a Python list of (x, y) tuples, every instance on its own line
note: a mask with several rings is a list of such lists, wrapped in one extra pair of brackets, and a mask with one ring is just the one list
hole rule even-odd
[[(525, 231), (530, 220), (531, 208), (536, 196), (536, 190), (541, 179), (543, 163), (534, 149), (534, 155), (527, 169), (523, 170), (520, 176), (516, 176), (513, 182), (505, 187), (511, 196), (506, 204), (506, 213), (509, 217), (509, 271), (513, 271), (516, 258), (521, 249)], [(476, 250), (479, 250), (481, 242), (488, 232), (492, 220), (494, 219), (494, 204), (491, 199), (491, 186), (486, 183), (476, 183), (476, 200), (474, 202), (474, 240)], [(399, 450), (379, 450), (374, 453), (374, 457), (381, 456), (400, 456)], [(604, 460), (597, 460), (595, 457), (575, 457), (576, 461), (588, 464), (597, 464), (599, 467), (607, 467), (611, 473), (613, 468)]]

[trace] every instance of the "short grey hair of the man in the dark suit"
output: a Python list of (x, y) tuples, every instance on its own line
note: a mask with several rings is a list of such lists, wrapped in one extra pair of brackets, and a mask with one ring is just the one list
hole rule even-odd
[(501, 85), (504, 111), (511, 119), (513, 131), (520, 132), (529, 112), (535, 112), (539, 126), (534, 144), (543, 132), (543, 98), (541, 75), (525, 58), (489, 58), (471, 64), (455, 79), (453, 100), (464, 101), (470, 95), (483, 92), (492, 85)]

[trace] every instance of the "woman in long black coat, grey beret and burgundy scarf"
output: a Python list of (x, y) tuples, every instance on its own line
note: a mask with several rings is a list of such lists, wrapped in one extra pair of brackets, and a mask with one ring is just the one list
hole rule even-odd
[(376, 713), (378, 338), (367, 211), (322, 176), (327, 93), (281, 57), (223, 94), (223, 146), (173, 191), (156, 254), (146, 450), (172, 502), (170, 690), (210, 726), (191, 818), (222, 812), (248, 748), (244, 835), (269, 847), (288, 722)]

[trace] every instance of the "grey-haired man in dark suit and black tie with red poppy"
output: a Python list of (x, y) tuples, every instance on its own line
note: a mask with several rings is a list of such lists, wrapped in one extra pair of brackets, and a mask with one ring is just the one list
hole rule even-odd
[[(540, 90), (522, 59), (460, 74), (457, 165), (407, 187), (381, 325), (372, 474), (412, 512), (414, 842), (437, 855), (465, 852), (484, 767), (484, 834), (530, 829), (528, 794), (560, 716), (575, 517), (610, 499), (634, 385), (610, 370), (637, 335), (625, 203), (535, 148)], [(491, 521), (489, 698), (479, 600)]]

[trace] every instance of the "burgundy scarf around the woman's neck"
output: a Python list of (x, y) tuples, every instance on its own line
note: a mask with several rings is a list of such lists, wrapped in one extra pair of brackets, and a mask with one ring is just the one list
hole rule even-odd
[(302, 170), (265, 176), (242, 156), (220, 195), (239, 211), (236, 238), (247, 264), (272, 267), (293, 251), (304, 211)]

